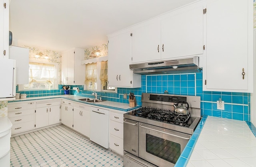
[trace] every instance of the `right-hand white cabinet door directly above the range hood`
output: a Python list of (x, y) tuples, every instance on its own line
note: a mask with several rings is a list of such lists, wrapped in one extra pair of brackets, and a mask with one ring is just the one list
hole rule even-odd
[(161, 21), (161, 59), (203, 54), (202, 11), (186, 9)]

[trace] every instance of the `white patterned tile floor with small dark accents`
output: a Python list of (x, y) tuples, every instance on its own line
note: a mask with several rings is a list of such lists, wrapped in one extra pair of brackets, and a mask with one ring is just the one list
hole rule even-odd
[(123, 167), (123, 158), (63, 125), (11, 138), (11, 167)]

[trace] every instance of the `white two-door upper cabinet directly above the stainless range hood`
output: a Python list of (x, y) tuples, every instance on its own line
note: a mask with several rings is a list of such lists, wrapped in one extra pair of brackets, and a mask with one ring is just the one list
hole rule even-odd
[(132, 27), (132, 63), (203, 54), (203, 6), (195, 5)]

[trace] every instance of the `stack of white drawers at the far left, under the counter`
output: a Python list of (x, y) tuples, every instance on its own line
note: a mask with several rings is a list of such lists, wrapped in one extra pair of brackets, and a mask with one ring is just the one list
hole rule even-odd
[(35, 129), (35, 101), (9, 102), (8, 118), (12, 122), (12, 134)]

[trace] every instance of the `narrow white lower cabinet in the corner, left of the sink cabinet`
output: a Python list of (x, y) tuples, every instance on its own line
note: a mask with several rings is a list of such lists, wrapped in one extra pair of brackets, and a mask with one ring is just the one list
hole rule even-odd
[(73, 128), (73, 102), (61, 101), (61, 123)]

